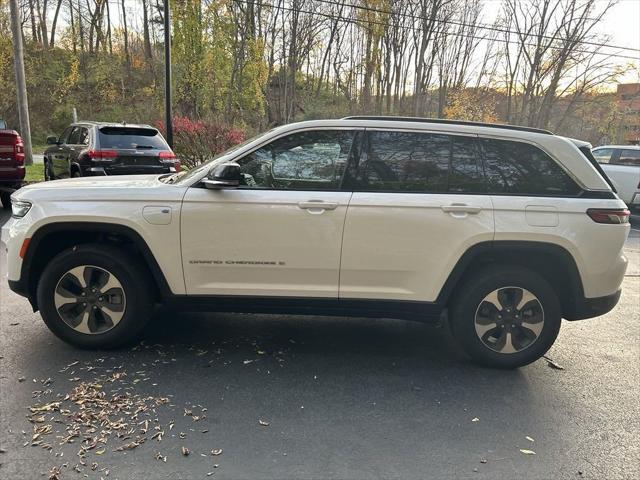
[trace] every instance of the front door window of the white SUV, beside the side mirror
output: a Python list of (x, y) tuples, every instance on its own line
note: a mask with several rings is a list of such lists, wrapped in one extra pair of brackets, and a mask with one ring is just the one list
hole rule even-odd
[(250, 188), (340, 188), (354, 131), (316, 130), (281, 137), (238, 160)]

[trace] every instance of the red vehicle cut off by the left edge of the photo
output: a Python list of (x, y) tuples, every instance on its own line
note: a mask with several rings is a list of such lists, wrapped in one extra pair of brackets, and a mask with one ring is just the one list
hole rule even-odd
[(24, 143), (15, 130), (0, 129), (0, 200), (11, 208), (11, 193), (24, 180)]

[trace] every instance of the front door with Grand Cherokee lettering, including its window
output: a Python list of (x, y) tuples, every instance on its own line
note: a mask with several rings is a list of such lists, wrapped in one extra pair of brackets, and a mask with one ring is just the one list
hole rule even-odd
[(181, 215), (188, 294), (337, 298), (354, 130), (306, 130), (243, 156), (239, 188), (190, 188)]

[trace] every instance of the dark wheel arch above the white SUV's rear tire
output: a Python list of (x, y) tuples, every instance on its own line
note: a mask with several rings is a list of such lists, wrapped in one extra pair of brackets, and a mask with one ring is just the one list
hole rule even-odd
[(557, 293), (563, 317), (575, 316), (578, 302), (584, 298), (578, 267), (568, 250), (547, 242), (499, 240), (473, 245), (449, 274), (437, 303), (448, 305), (462, 280), (473, 272), (504, 264), (522, 266), (540, 274)]

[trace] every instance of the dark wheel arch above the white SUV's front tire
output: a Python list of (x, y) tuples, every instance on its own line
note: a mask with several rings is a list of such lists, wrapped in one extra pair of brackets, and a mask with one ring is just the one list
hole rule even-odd
[(102, 222), (60, 222), (38, 228), (32, 235), (22, 262), (20, 279), (34, 311), (38, 310), (37, 286), (49, 259), (75, 245), (108, 242), (138, 253), (156, 287), (156, 298), (171, 295), (167, 280), (144, 238), (133, 228)]

